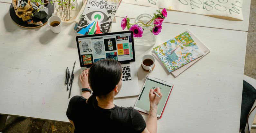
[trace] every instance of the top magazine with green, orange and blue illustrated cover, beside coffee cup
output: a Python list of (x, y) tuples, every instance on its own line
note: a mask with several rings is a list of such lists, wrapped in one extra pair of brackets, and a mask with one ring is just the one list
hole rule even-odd
[(187, 31), (153, 48), (169, 72), (203, 56)]

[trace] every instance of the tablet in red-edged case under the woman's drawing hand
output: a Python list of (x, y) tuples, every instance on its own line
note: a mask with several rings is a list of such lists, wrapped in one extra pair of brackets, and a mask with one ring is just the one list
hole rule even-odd
[(150, 109), (149, 91), (150, 89), (154, 89), (156, 87), (160, 88), (160, 91), (163, 95), (159, 104), (157, 105), (156, 113), (157, 117), (161, 118), (173, 88), (173, 84), (166, 81), (147, 76), (146, 81), (141, 89), (140, 95), (136, 101), (136, 104), (134, 105), (134, 109), (148, 114)]

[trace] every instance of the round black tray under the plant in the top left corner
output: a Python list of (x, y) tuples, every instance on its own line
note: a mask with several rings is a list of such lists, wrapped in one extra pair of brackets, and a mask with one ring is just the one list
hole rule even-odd
[[(48, 8), (48, 14), (49, 14), (46, 18), (39, 19), (37, 17), (32, 17), (31, 20), (33, 20), (34, 22), (41, 21), (41, 22), (43, 22), (43, 25), (45, 25), (47, 23), (48, 19), (52, 16), (52, 13), (54, 12), (54, 5), (48, 4), (46, 7)], [(13, 4), (10, 5), (9, 13), (10, 13), (10, 16), (11, 16), (12, 20), (17, 25), (19, 25), (23, 28), (38, 28), (38, 27), (41, 27), (41, 25), (28, 24), (27, 21), (23, 21), (22, 18), (19, 18), (15, 14)]]

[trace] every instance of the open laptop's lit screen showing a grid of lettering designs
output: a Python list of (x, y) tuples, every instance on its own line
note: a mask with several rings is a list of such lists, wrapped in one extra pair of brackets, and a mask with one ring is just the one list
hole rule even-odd
[(132, 31), (78, 36), (76, 41), (81, 67), (106, 58), (120, 63), (135, 61)]

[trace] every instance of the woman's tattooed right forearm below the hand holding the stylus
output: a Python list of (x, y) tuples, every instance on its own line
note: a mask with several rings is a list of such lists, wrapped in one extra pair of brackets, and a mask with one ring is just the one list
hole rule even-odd
[(150, 104), (150, 110), (147, 117), (147, 129), (150, 133), (156, 133), (157, 131), (157, 104)]

